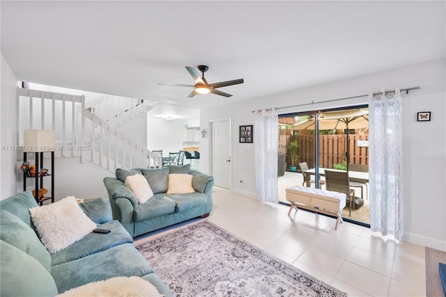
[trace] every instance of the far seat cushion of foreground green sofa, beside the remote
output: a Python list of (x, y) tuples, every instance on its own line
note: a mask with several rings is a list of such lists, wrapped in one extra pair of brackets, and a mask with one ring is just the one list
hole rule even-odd
[(59, 250), (59, 252), (51, 254), (52, 265), (70, 262), (102, 252), (102, 250), (107, 250), (108, 248), (113, 248), (114, 246), (133, 242), (132, 236), (128, 234), (127, 230), (125, 230), (118, 220), (104, 223), (99, 225), (98, 228), (110, 230), (110, 233), (102, 234), (91, 232), (86, 234), (79, 241), (72, 243), (63, 250)]

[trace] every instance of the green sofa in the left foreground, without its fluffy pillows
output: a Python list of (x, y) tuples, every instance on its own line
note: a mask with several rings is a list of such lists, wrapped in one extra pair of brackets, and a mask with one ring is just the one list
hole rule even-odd
[(134, 248), (106, 198), (79, 203), (84, 213), (109, 234), (89, 233), (50, 254), (35, 231), (29, 209), (38, 207), (29, 191), (0, 200), (0, 296), (56, 296), (89, 282), (139, 276), (160, 294), (172, 296), (147, 260)]

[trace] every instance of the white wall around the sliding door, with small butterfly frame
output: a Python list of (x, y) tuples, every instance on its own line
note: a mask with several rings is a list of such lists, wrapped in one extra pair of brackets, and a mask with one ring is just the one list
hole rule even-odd
[[(232, 191), (256, 197), (254, 144), (238, 143), (238, 126), (254, 123), (252, 111), (413, 86), (421, 86), (421, 90), (403, 95), (404, 240), (446, 250), (444, 59), (201, 110), (201, 129), (210, 127), (208, 122), (215, 118), (231, 118)], [(279, 109), (279, 113), (363, 103), (367, 97)], [(432, 111), (431, 122), (416, 122), (418, 111)], [(209, 141), (210, 137), (200, 143), (203, 172), (210, 172)], [(240, 179), (245, 182), (240, 184)]]

